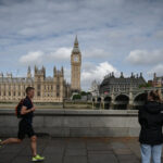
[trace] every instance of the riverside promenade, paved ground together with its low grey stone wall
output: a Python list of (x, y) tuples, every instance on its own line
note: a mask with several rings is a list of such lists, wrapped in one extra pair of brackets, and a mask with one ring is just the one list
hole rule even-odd
[[(34, 128), (43, 163), (140, 163), (137, 111), (38, 110)], [(0, 138), (17, 135), (14, 110), (0, 110)], [(0, 148), (0, 163), (30, 163), (29, 139)]]

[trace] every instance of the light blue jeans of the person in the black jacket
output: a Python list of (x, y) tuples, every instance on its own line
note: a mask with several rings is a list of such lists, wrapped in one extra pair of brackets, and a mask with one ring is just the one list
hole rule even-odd
[(150, 163), (152, 158), (152, 163), (161, 163), (161, 153), (162, 153), (162, 145), (141, 145), (141, 162)]

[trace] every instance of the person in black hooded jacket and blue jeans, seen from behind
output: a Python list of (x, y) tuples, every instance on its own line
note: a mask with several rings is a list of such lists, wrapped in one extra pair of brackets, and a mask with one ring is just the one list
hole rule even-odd
[(163, 143), (163, 113), (159, 95), (151, 91), (142, 109), (139, 110), (139, 124), (141, 126), (139, 142), (142, 163), (161, 163)]

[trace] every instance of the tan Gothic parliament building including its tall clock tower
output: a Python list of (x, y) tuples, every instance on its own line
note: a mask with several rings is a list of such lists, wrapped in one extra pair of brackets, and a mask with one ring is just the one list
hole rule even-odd
[(34, 76), (28, 66), (26, 77), (13, 77), (12, 74), (0, 73), (0, 101), (15, 101), (24, 98), (28, 86), (35, 88), (35, 102), (62, 102), (72, 92), (80, 91), (82, 53), (77, 36), (71, 54), (71, 84), (64, 78), (64, 68), (53, 67), (53, 76), (46, 77), (46, 67), (35, 66)]

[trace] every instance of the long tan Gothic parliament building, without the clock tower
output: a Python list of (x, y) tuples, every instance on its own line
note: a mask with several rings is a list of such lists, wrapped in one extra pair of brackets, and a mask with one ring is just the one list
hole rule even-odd
[(35, 66), (34, 77), (28, 67), (27, 77), (0, 74), (0, 101), (15, 101), (25, 97), (27, 86), (35, 87), (35, 102), (62, 102), (70, 97), (71, 86), (64, 79), (63, 67), (53, 68), (53, 77), (46, 77), (46, 68)]

